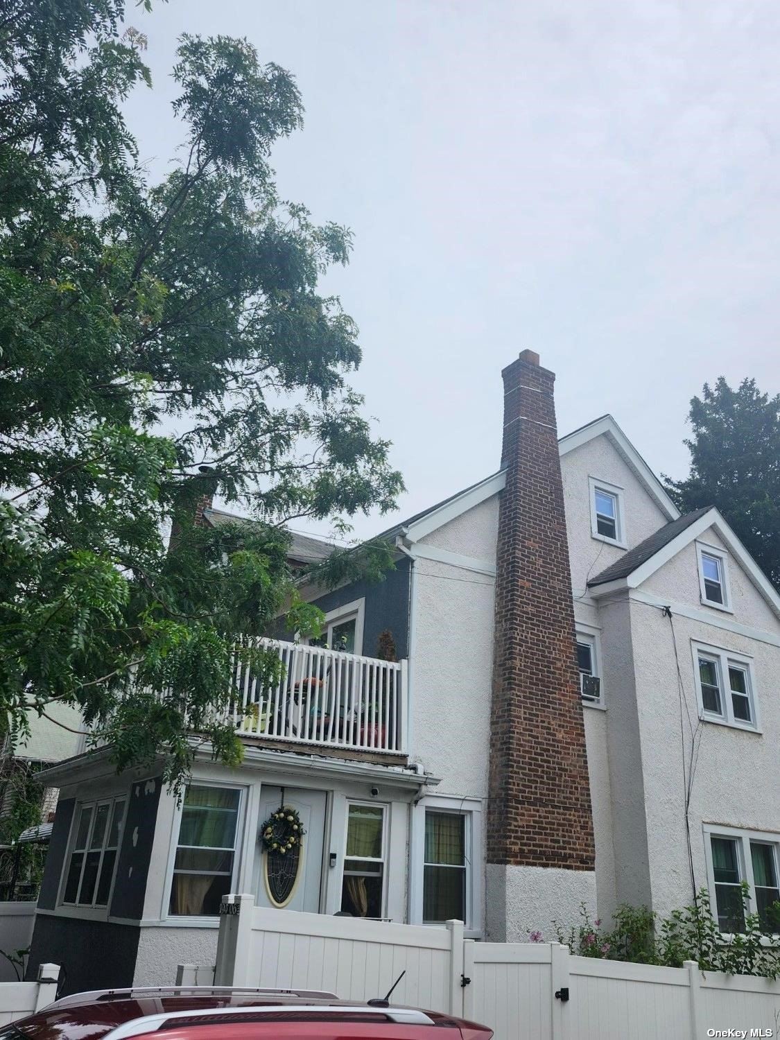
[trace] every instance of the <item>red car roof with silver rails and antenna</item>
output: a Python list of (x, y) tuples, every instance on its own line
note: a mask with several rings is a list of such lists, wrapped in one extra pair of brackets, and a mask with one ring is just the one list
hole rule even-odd
[(354, 1004), (313, 990), (205, 986), (75, 993), (0, 1029), (0, 1040), (491, 1040), (492, 1036), (486, 1025), (385, 1000)]

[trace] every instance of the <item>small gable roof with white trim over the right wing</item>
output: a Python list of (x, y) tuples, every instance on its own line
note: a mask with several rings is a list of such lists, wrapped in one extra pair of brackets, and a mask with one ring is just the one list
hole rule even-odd
[(593, 590), (593, 595), (597, 598), (621, 589), (636, 589), (710, 527), (718, 534), (730, 555), (742, 567), (775, 615), (780, 618), (780, 594), (713, 505), (687, 513), (684, 517), (680, 517), (679, 521), (666, 524), (660, 530), (629, 550), (617, 564), (607, 567), (595, 578), (591, 578), (588, 588)]

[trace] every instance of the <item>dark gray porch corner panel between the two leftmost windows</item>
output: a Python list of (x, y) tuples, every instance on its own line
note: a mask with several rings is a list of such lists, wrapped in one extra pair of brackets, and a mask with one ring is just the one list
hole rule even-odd
[[(111, 917), (140, 920), (144, 916), (144, 898), (161, 788), (161, 777), (139, 780), (130, 788), (130, 804), (111, 896)], [(161, 868), (164, 869), (165, 865), (162, 864)]]

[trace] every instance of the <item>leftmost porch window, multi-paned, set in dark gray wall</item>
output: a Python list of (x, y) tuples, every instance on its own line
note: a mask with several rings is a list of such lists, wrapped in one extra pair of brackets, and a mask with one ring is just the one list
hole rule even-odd
[(63, 903), (81, 907), (108, 906), (126, 801), (123, 797), (77, 807)]

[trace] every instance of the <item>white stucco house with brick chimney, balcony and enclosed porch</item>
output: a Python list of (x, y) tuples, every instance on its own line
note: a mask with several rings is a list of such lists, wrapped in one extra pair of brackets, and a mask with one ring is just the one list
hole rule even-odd
[[(382, 583), (303, 587), (324, 645), (274, 644), (278, 688), (238, 670), (240, 769), (199, 754), (181, 804), (105, 749), (46, 772), (30, 970), (172, 981), (213, 963), (230, 891), (499, 941), (701, 886), (734, 931), (740, 881), (759, 912), (778, 898), (780, 598), (610, 416), (558, 440), (537, 355), (502, 376), (496, 472), (386, 532)], [(266, 825), (305, 836), (284, 858)]]

